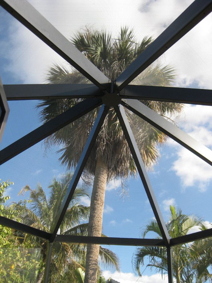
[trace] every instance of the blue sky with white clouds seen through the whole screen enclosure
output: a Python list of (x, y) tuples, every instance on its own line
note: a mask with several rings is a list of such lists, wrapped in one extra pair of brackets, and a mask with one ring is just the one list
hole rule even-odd
[[(75, 1), (72, 7), (68, 1), (63, 0), (60, 6), (55, 2), (50, 10), (49, 1), (30, 2), (68, 38), (86, 24), (98, 29), (105, 28), (113, 34), (120, 30), (121, 25), (130, 25), (135, 29), (137, 37), (143, 38), (145, 35), (155, 37), (159, 35), (192, 1), (179, 1), (177, 7), (175, 1), (170, 1), (169, 5), (162, 0), (157, 1), (155, 5), (152, 1), (143, 1), (142, 5), (139, 1), (134, 1), (129, 7), (121, 5), (120, 10), (115, 9), (115, 12), (105, 3), (101, 3), (103, 5), (101, 7), (98, 1), (88, 1), (83, 6), (81, 1)], [(91, 3), (95, 9), (93, 17), (89, 13)], [(74, 9), (74, 13), (70, 20), (71, 9)], [(113, 16), (117, 21), (112, 20), (105, 11), (108, 14), (115, 13)], [(125, 17), (121, 17), (123, 15), (121, 13), (125, 13)], [(154, 19), (152, 22), (149, 21), (150, 17)], [(142, 30), (139, 29), (141, 19)], [(194, 31), (188, 33), (159, 59), (176, 68), (178, 75), (174, 86), (211, 89), (212, 59), (207, 57), (212, 42), (209, 33), (211, 23), (211, 15), (209, 15), (194, 28)], [(0, 77), (4, 84), (43, 83), (45, 72), (52, 62), (65, 63), (60, 56), (3, 9), (0, 9), (0, 34)], [(205, 45), (202, 44), (203, 40)], [(0, 149), (40, 125), (37, 103), (38, 101), (9, 101), (10, 114)], [(177, 118), (177, 123), (184, 131), (211, 148), (211, 118), (210, 107), (186, 105)], [(53, 147), (45, 151), (43, 142), (39, 142), (0, 166), (0, 178), (14, 182), (14, 186), (8, 189), (11, 201), (27, 197), (27, 194), (24, 197), (17, 196), (26, 184), (35, 188), (40, 182), (48, 194), (48, 185), (52, 178), (54, 176), (59, 178), (66, 171), (58, 161), (59, 155), (56, 154), (58, 149)], [(185, 214), (195, 214), (211, 222), (211, 167), (171, 139), (159, 150), (161, 157), (148, 174), (165, 221), (168, 220), (169, 205), (174, 204)], [(128, 196), (124, 199), (120, 198), (119, 194), (120, 180), (115, 180), (107, 186), (103, 214), (103, 233), (107, 236), (137, 238), (142, 227), (153, 217), (139, 177), (137, 180), (130, 179), (126, 184)], [(89, 200), (83, 199), (83, 203), (89, 204)], [(151, 236), (154, 235), (150, 234), (149, 237)], [(131, 264), (135, 247), (109, 246), (109, 248), (120, 258), (123, 274), (119, 276), (135, 278)], [(105, 270), (105, 274), (111, 274), (111, 271)], [(144, 274), (146, 277), (144, 276), (141, 282), (154, 282), (154, 271), (150, 272), (147, 269)], [(157, 280), (159, 282), (161, 279)]]

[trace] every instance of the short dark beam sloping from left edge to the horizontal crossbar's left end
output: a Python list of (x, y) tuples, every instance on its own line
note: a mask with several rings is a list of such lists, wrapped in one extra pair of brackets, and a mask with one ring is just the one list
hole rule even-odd
[(18, 231), (22, 231), (24, 233), (31, 234), (31, 235), (36, 236), (36, 237), (44, 238), (46, 240), (49, 240), (50, 236), (51, 236), (50, 233), (47, 233), (45, 231), (36, 229), (34, 227), (31, 227), (31, 226), (28, 226), (28, 225), (25, 225), (25, 224), (22, 224), (20, 222), (17, 222), (15, 220), (11, 220), (11, 219), (3, 217), (3, 216), (0, 216), (0, 225), (7, 226), (11, 229), (15, 229), (15, 230), (18, 230)]

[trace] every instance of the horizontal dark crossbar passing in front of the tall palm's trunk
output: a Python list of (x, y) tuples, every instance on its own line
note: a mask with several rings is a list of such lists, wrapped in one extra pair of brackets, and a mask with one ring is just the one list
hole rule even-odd
[(141, 238), (56, 235), (55, 241), (65, 242), (65, 243), (118, 245), (118, 246), (165, 246), (165, 242), (162, 239), (141, 239)]

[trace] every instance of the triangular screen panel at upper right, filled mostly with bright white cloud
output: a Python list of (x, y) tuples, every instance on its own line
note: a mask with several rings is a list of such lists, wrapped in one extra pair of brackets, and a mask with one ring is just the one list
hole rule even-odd
[(132, 83), (212, 89), (211, 26), (212, 14), (209, 14)]

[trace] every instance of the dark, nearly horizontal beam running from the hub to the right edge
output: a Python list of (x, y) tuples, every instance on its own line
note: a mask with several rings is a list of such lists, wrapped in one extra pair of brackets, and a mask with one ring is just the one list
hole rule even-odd
[(129, 99), (212, 105), (211, 89), (127, 85), (119, 96)]

